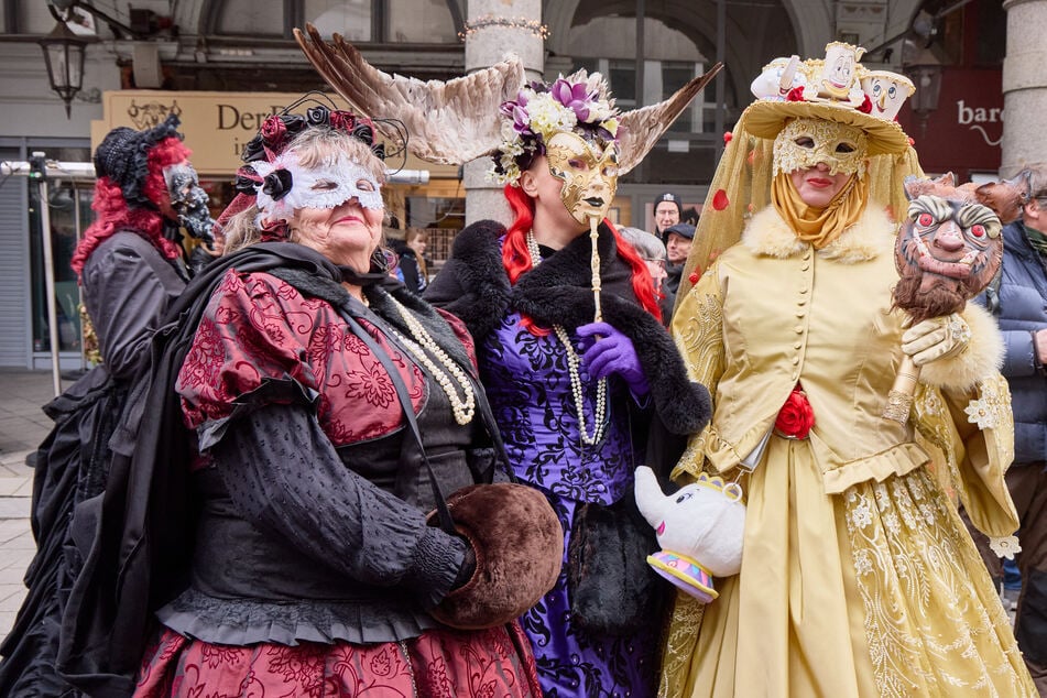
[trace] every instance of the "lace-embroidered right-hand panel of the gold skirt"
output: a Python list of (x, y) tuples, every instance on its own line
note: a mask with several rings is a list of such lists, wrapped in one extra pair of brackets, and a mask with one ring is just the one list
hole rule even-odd
[(1034, 696), (959, 516), (923, 469), (844, 494), (880, 696)]

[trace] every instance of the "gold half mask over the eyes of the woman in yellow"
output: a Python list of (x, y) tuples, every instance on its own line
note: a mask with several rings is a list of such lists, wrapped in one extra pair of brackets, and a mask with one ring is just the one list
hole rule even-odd
[(824, 119), (796, 119), (774, 139), (774, 174), (807, 170), (818, 163), (829, 174), (865, 174), (865, 133), (858, 127)]

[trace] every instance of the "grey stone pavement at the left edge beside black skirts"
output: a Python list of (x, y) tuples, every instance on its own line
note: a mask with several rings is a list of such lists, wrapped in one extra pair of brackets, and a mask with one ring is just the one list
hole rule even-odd
[(29, 523), (33, 469), (25, 458), (51, 430), (41, 405), (52, 397), (51, 372), (0, 369), (0, 640), (14, 624), (25, 596), (22, 576), (36, 552)]

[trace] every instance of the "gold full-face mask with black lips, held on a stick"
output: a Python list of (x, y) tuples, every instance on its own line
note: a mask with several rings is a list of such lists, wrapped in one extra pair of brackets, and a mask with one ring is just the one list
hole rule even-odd
[(602, 150), (577, 133), (561, 131), (545, 144), (549, 173), (563, 179), (560, 198), (580, 223), (607, 216), (618, 189), (618, 144)]

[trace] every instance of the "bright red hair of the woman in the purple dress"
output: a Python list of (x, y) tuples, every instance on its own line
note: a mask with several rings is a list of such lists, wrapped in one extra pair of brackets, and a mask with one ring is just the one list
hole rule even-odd
[[(527, 232), (534, 223), (534, 199), (523, 189), (511, 184), (505, 185), (505, 199), (513, 209), (514, 220), (505, 232), (505, 242), (502, 244), (502, 265), (509, 275), (509, 283), (515, 285), (520, 276), (532, 269), (531, 252), (527, 250)], [(610, 228), (611, 235), (614, 236), (618, 255), (632, 270), (633, 293), (636, 299), (643, 309), (661, 320), (662, 308), (658, 307), (658, 301), (654, 295), (654, 284), (651, 282), (647, 265), (640, 259), (633, 247), (622, 240), (610, 220), (604, 218), (603, 225)], [(530, 317), (524, 317), (523, 324), (534, 335), (543, 336), (548, 332), (548, 330), (536, 328)]]

